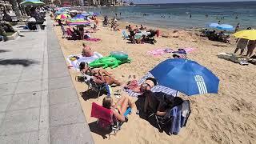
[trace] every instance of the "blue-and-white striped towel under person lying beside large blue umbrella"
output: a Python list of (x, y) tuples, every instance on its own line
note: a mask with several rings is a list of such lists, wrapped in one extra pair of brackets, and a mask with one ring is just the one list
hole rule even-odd
[[(138, 81), (138, 85), (141, 85), (143, 82), (146, 81), (146, 78), (154, 78), (154, 76), (152, 74), (150, 74), (150, 72), (148, 74), (146, 74), (145, 76), (143, 76), (139, 81)], [(140, 93), (136, 93), (132, 90), (125, 90), (126, 93), (128, 93), (131, 97), (138, 97), (139, 95), (141, 95)], [(173, 89), (170, 89), (169, 87), (166, 87), (166, 86), (154, 86), (152, 87), (151, 89), (152, 92), (162, 92), (162, 93), (165, 93), (165, 94), (170, 94), (170, 95), (173, 95), (174, 97), (178, 95), (178, 91), (177, 90), (173, 90)]]

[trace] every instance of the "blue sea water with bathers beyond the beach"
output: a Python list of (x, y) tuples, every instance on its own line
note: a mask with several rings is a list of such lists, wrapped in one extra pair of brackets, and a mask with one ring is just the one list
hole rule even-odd
[(256, 28), (256, 2), (150, 4), (85, 10), (109, 18), (117, 14), (118, 19), (125, 22), (166, 28), (202, 28), (219, 21), (232, 26), (240, 23), (243, 29), (248, 26)]

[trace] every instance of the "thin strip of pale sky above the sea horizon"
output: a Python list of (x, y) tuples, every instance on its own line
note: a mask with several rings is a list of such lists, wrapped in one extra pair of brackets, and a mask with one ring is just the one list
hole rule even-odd
[[(238, 2), (245, 0), (126, 0), (134, 3), (182, 3), (182, 2)], [(247, 0), (249, 1), (249, 0)], [(256, 0), (250, 0), (256, 1)]]

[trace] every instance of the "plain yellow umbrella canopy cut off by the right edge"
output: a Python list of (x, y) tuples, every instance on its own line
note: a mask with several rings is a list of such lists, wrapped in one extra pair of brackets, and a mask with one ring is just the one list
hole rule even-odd
[(235, 38), (256, 40), (256, 30), (241, 30), (233, 34)]

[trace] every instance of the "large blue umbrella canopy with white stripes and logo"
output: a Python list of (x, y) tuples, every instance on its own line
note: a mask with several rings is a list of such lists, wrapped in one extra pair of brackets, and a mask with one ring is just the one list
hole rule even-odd
[(167, 59), (150, 73), (161, 86), (170, 87), (186, 95), (218, 93), (219, 79), (198, 62), (186, 59)]

